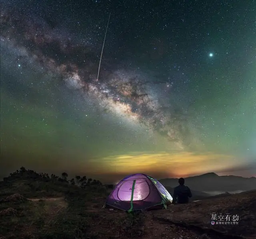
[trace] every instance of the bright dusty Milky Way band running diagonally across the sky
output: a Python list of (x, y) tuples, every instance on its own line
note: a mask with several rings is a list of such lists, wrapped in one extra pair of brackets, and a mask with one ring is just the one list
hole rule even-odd
[(141, 76), (106, 67), (97, 81), (98, 52), (60, 33), (39, 17), (29, 17), (18, 10), (2, 10), (1, 26), (1, 41), (23, 49), (30, 60), (60, 76), (69, 88), (98, 102), (103, 112), (142, 123), (181, 147), (191, 144), (187, 116), (177, 107), (160, 104), (159, 94), (153, 95)]

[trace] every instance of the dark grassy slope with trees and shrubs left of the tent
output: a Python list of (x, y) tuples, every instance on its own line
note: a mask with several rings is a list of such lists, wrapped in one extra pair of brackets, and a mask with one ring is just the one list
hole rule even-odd
[(12, 173), (0, 184), (0, 238), (134, 238), (141, 234), (142, 214), (102, 209), (111, 185), (87, 180), (82, 187), (81, 181), (72, 184), (24, 169)]

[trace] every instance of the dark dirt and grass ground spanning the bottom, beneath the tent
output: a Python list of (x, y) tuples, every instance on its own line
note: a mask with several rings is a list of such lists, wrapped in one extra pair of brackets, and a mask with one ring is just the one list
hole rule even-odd
[[(251, 191), (132, 215), (102, 208), (100, 197), (92, 202), (16, 195), (0, 203), (0, 239), (255, 239), (255, 198), (256, 191)], [(237, 214), (239, 224), (211, 225), (214, 212)]]

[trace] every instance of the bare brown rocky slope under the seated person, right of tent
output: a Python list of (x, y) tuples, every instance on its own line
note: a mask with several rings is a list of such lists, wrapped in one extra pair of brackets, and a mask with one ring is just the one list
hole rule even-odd
[[(172, 205), (168, 210), (152, 212), (154, 221), (180, 226), (204, 238), (256, 238), (256, 190), (235, 195), (212, 197), (184, 205)], [(238, 224), (211, 225), (213, 213), (238, 216)], [(230, 218), (231, 218), (230, 217)], [(231, 223), (232, 219), (230, 219)]]

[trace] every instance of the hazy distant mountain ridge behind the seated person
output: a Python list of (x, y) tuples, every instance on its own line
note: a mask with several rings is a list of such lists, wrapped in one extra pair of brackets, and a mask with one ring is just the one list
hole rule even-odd
[[(176, 187), (178, 185), (177, 178), (168, 178), (159, 180), (165, 187)], [(205, 173), (194, 177), (186, 177), (185, 184), (195, 191), (250, 191), (256, 189), (256, 177), (240, 177), (240, 176), (219, 176), (216, 173)]]

